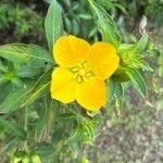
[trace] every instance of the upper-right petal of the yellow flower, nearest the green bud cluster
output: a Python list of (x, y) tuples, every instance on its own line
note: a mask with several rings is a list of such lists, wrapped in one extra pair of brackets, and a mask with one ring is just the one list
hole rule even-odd
[(116, 71), (120, 58), (111, 43), (97, 42), (91, 47), (88, 62), (99, 79), (106, 79)]

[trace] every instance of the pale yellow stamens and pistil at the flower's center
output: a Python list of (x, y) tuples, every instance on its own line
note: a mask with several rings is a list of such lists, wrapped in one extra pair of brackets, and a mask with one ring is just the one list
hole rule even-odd
[(76, 66), (71, 68), (74, 74), (73, 78), (77, 79), (78, 83), (88, 82), (90, 77), (93, 77), (91, 67), (86, 62), (77, 63)]

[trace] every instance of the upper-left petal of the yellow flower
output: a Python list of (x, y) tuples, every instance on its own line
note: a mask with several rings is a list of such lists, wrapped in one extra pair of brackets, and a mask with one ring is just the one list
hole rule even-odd
[(75, 36), (60, 37), (53, 48), (53, 57), (62, 67), (72, 67), (88, 57), (90, 45)]

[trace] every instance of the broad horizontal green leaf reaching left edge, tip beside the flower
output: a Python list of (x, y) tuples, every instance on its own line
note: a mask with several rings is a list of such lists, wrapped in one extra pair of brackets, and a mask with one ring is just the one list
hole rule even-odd
[(40, 46), (10, 43), (0, 46), (0, 57), (12, 62), (28, 63), (34, 66), (42, 66), (45, 63), (53, 63), (51, 55)]

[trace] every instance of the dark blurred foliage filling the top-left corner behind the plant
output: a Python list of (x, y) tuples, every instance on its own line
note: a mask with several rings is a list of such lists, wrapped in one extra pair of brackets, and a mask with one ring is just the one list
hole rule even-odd
[[(35, 3), (26, 5), (14, 0), (0, 2), (0, 32), (5, 37), (5, 40), (1, 38), (0, 41), (42, 42), (43, 18), (41, 13), (34, 11), (35, 8)], [(8, 33), (12, 40), (8, 40)]]

